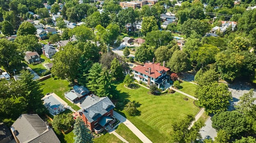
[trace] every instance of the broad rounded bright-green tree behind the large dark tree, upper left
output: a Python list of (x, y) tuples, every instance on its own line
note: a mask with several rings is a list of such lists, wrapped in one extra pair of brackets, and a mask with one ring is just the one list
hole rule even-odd
[(72, 29), (69, 32), (69, 36), (71, 37), (72, 35), (74, 35), (77, 40), (80, 40), (82, 42), (92, 40), (93, 36), (94, 36), (92, 31), (84, 25), (81, 25), (81, 26), (78, 26), (78, 27), (75, 27), (74, 29)]

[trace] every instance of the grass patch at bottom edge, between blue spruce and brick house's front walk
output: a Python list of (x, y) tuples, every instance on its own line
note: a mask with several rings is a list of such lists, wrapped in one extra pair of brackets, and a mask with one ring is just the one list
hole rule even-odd
[(93, 139), (92, 141), (94, 143), (122, 143), (122, 141), (118, 139), (118, 137), (108, 133), (104, 134), (103, 136), (100, 136), (99, 138)]

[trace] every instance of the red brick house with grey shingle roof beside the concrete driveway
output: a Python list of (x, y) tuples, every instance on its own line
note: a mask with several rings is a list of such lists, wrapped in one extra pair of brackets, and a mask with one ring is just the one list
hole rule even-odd
[(90, 98), (89, 103), (91, 104), (82, 107), (77, 111), (77, 114), (83, 119), (89, 130), (95, 131), (98, 134), (105, 129), (106, 125), (115, 122), (115, 118), (113, 117), (115, 105), (108, 97), (101, 97), (95, 102), (95, 98), (92, 96), (86, 98)]

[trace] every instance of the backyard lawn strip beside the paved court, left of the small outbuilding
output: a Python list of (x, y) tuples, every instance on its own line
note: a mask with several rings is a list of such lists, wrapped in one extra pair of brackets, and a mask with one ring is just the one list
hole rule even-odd
[(70, 85), (70, 83), (67, 80), (49, 78), (40, 83), (41, 83), (41, 89), (43, 90), (44, 95), (46, 95), (47, 93), (53, 92), (57, 94), (60, 98), (62, 98), (62, 100), (67, 102), (68, 105), (71, 106), (74, 110), (80, 109), (80, 107), (78, 107), (77, 105), (74, 105), (64, 97), (64, 93), (68, 92), (72, 88), (72, 85)]

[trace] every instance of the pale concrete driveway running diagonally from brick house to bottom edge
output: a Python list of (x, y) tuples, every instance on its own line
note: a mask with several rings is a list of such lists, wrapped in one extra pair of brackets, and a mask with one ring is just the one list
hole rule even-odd
[[(113, 111), (115, 118), (124, 123), (143, 143), (152, 143), (135, 125), (133, 125), (127, 118), (120, 115), (118, 112)], [(153, 133), (152, 133), (153, 134)]]

